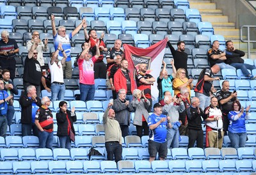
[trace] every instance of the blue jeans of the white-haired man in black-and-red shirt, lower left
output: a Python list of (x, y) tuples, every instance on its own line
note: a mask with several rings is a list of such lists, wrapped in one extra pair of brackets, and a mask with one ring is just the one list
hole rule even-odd
[(39, 148), (52, 149), (53, 132), (40, 132), (39, 133)]

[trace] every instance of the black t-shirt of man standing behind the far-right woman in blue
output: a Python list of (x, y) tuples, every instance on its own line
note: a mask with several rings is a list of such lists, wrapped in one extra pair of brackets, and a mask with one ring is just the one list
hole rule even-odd
[(236, 98), (231, 98), (231, 100), (229, 100), (227, 103), (225, 103), (223, 105), (220, 104), (220, 101), (223, 100), (223, 99), (228, 98), (231, 94), (232, 93), (229, 92), (229, 91), (227, 91), (227, 92), (219, 91), (217, 93), (217, 98), (218, 98), (219, 106), (220, 106), (221, 111), (224, 114), (228, 114), (228, 112), (232, 110), (232, 103), (236, 100)]

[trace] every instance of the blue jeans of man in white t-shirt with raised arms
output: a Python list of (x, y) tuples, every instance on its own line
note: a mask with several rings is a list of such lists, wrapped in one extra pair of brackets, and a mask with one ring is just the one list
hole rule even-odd
[(51, 92), (52, 92), (52, 98), (51, 98), (52, 102), (56, 101), (57, 98), (58, 100), (64, 100), (65, 84), (57, 84), (55, 82), (52, 82)]

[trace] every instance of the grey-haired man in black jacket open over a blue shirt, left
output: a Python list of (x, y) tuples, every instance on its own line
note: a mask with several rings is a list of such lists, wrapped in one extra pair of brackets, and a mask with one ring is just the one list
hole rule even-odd
[(36, 110), (42, 105), (40, 98), (36, 95), (35, 86), (28, 86), (26, 93), (22, 93), (19, 99), (21, 107), (20, 123), (22, 129), (22, 136), (33, 135), (39, 137), (38, 129), (35, 125)]

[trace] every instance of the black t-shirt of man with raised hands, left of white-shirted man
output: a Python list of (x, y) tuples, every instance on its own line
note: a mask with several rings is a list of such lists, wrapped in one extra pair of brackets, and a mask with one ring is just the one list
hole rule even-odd
[(33, 58), (29, 59), (27, 56), (24, 65), (23, 81), (40, 86), (41, 77), (42, 72), (40, 63)]

